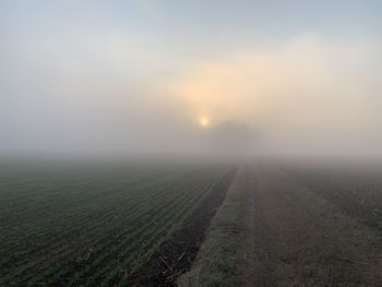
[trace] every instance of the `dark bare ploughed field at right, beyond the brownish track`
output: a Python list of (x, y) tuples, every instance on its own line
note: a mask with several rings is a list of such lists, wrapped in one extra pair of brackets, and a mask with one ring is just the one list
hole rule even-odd
[(288, 166), (299, 182), (382, 235), (382, 167)]

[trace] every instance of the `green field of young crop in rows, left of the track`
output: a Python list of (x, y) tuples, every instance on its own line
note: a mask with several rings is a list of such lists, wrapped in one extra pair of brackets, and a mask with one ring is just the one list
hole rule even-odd
[(0, 285), (123, 284), (226, 171), (208, 164), (3, 164)]

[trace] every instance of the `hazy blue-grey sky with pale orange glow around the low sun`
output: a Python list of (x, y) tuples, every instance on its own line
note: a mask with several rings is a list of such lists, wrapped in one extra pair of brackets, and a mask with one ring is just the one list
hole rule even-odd
[(382, 2), (0, 2), (0, 155), (380, 155)]

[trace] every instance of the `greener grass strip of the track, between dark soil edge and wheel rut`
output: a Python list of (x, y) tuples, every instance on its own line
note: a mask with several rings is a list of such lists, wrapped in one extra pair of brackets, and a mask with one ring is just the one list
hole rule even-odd
[[(211, 223), (192, 270), (182, 275), (179, 286), (246, 286), (246, 266), (252, 264), (252, 190), (240, 170), (228, 190), (224, 204)], [(243, 248), (244, 247), (244, 248)], [(250, 251), (248, 251), (248, 249)]]

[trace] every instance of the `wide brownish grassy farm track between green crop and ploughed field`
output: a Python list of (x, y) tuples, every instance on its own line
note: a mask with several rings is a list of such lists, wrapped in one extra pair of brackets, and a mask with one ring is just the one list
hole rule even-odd
[(241, 168), (180, 286), (382, 286), (381, 238), (278, 168)]

